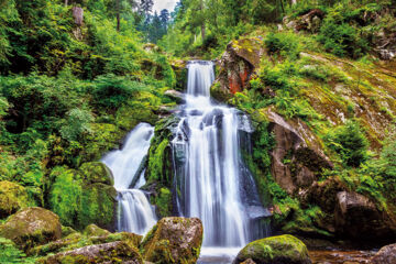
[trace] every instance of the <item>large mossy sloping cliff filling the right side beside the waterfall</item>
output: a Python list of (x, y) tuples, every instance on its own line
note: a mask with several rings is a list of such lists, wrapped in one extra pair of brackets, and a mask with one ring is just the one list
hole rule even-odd
[(272, 56), (262, 37), (248, 37), (231, 42), (218, 66), (212, 96), (250, 112), (275, 140), (273, 147), (255, 141), (253, 148), (271, 156), (267, 176), (263, 168), (255, 172), (270, 186), (277, 228), (352, 240), (395, 234), (394, 199), (386, 190), (364, 190), (363, 170), (345, 166), (327, 142), (331, 131), (353, 120), (376, 158), (396, 117), (395, 62), (363, 63), (307, 48), (290, 62)]

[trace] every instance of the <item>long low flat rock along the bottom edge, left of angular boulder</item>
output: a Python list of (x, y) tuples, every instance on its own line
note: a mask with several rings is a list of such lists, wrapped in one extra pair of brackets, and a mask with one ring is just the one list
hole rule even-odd
[(81, 249), (58, 253), (42, 260), (45, 264), (61, 263), (143, 263), (136, 248), (117, 241), (106, 244), (88, 245)]

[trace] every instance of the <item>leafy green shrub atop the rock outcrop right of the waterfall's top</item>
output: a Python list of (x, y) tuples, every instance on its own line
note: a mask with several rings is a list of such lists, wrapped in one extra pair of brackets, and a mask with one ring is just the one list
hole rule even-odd
[(270, 33), (265, 38), (265, 46), (268, 53), (296, 59), (299, 56), (300, 47), (298, 40), (289, 33)]

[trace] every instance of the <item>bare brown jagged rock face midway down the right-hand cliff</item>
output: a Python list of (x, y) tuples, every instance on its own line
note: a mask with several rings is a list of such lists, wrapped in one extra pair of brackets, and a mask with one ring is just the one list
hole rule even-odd
[(276, 147), (271, 153), (272, 175), (289, 195), (300, 187), (309, 187), (317, 179), (318, 173), (332, 167), (316, 142), (316, 136), (304, 122), (297, 120), (289, 124), (271, 109), (266, 116), (276, 140)]

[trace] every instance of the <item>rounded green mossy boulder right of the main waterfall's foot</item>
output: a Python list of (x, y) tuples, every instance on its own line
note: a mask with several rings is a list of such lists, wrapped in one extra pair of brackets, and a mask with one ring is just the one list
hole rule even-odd
[(284, 234), (249, 243), (238, 254), (234, 264), (251, 258), (257, 264), (310, 264), (307, 246), (297, 238)]

